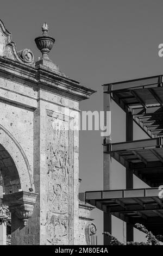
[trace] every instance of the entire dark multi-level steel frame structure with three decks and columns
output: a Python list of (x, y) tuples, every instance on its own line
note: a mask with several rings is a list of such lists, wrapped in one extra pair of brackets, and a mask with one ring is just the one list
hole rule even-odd
[[(103, 191), (79, 195), (81, 200), (104, 212), (104, 231), (111, 233), (111, 216), (126, 222), (127, 241), (134, 240), (133, 227), (139, 222), (155, 235), (163, 234), (163, 75), (104, 84), (104, 111), (114, 100), (126, 112), (126, 142), (104, 138)], [(133, 122), (149, 139), (133, 141)], [(126, 167), (126, 190), (111, 190), (111, 157)], [(133, 174), (151, 188), (135, 190)], [(108, 238), (104, 236), (104, 245)]]

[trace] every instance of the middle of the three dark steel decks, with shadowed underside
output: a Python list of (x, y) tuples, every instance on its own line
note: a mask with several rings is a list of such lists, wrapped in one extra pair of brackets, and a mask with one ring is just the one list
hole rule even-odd
[(124, 167), (130, 168), (149, 186), (155, 187), (163, 184), (162, 137), (105, 144), (104, 152), (111, 154)]

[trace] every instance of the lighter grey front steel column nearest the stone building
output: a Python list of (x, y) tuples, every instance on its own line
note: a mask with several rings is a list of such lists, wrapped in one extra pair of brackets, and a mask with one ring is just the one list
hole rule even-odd
[[(111, 89), (111, 86), (104, 86), (104, 90)], [(106, 125), (106, 111), (111, 111), (111, 97), (110, 94), (104, 93), (104, 112)], [(106, 141), (111, 142), (111, 136), (105, 137)], [(103, 187), (104, 190), (111, 190), (111, 156), (110, 154), (103, 154)], [(111, 234), (111, 214), (104, 212), (103, 214), (103, 230), (108, 231)], [(104, 235), (104, 245), (108, 245), (110, 240), (108, 236)]]

